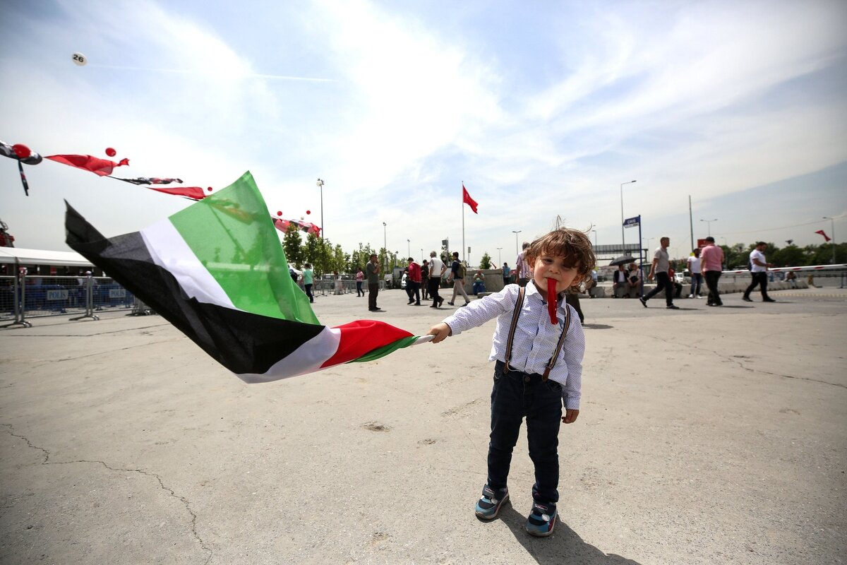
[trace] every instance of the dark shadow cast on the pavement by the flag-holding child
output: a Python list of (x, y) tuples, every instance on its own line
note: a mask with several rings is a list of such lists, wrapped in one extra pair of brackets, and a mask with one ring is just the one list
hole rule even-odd
[(518, 513), (512, 505), (501, 508), (500, 519), (527, 553), (540, 564), (556, 565), (639, 565), (626, 557), (610, 553), (606, 555), (595, 546), (585, 543), (566, 523), (557, 520), (553, 533), (547, 538), (536, 538), (527, 534), (526, 516)]

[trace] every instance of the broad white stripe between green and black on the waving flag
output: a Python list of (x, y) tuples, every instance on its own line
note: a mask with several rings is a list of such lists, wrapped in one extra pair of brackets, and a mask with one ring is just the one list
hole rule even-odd
[(241, 309), (235, 307), (230, 296), (226, 295), (218, 281), (200, 263), (170, 220), (163, 219), (139, 233), (147, 245), (147, 251), (150, 252), (153, 263), (173, 274), (182, 290), (190, 298), (197, 298), (198, 302), (217, 304), (233, 310)]

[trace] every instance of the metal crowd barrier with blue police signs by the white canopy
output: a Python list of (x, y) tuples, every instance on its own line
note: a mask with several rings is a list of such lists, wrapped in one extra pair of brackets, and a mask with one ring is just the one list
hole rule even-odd
[(150, 313), (136, 296), (108, 277), (0, 277), (0, 322), (9, 322), (0, 327), (30, 327), (27, 319), (64, 314), (79, 314), (72, 320), (97, 320), (97, 313), (120, 310)]

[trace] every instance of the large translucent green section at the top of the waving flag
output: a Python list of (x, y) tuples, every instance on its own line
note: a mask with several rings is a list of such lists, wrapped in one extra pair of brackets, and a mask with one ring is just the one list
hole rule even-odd
[(169, 220), (235, 307), (320, 324), (291, 280), (277, 230), (249, 171)]

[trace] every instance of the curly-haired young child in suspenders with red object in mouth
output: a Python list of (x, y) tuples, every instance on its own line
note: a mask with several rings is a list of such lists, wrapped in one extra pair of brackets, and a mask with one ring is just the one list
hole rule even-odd
[[(559, 426), (579, 415), (582, 358), (585, 338), (573, 307), (564, 292), (594, 269), (589, 238), (578, 230), (562, 228), (540, 237), (526, 249), (532, 279), (523, 289), (517, 309), (519, 285), (485, 296), (460, 308), (429, 330), (433, 343), (458, 335), (497, 318), (489, 361), (495, 361), (491, 391), (491, 434), (488, 447), (488, 480), (476, 504), (479, 518), (497, 517), (509, 498), (507, 477), (518, 431), (527, 418), (529, 457), (535, 466), (533, 507), (526, 529), (531, 535), (551, 535), (559, 500)], [(556, 319), (548, 312), (548, 279), (556, 284)], [(517, 316), (517, 317), (516, 317)], [(568, 323), (566, 324), (566, 319)], [(514, 323), (514, 322), (517, 323)], [(514, 325), (513, 335), (512, 325)], [(564, 343), (561, 348), (562, 334)], [(562, 402), (565, 415), (562, 416)]]

